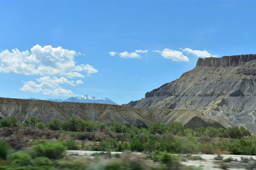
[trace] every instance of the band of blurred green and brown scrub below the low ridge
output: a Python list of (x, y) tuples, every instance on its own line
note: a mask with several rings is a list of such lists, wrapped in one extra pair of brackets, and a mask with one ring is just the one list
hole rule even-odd
[[(7, 117), (0, 120), (0, 139), (0, 169), (196, 169), (170, 153), (256, 155), (256, 138), (244, 127), (184, 129), (178, 122), (138, 128), (76, 117), (48, 124), (36, 117), (24, 122)], [(66, 150), (124, 154), (71, 159)]]

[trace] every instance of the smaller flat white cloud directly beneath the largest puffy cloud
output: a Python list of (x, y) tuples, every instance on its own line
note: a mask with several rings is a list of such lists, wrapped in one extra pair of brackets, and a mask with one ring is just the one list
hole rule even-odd
[(53, 76), (52, 78), (49, 76), (43, 76), (37, 78), (35, 83), (34, 81), (26, 81), (23, 87), (20, 89), (24, 92), (33, 92), (33, 93), (42, 93), (45, 95), (51, 96), (72, 96), (74, 93), (71, 90), (63, 89), (61, 85), (79, 85), (83, 83), (81, 80), (73, 81), (67, 80), (67, 78), (61, 77), (57, 78)]

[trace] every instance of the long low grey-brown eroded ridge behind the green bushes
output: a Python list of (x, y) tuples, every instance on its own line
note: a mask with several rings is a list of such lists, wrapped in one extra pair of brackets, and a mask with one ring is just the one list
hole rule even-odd
[(168, 110), (156, 108), (129, 108), (111, 104), (95, 103), (57, 103), (52, 101), (0, 98), (0, 118), (16, 116), (19, 120), (39, 117), (42, 122), (53, 118), (65, 120), (79, 117), (111, 124), (118, 120), (123, 124), (129, 122), (137, 127), (147, 127), (153, 122), (181, 122), (186, 128), (230, 127), (223, 118), (207, 117), (199, 111)]

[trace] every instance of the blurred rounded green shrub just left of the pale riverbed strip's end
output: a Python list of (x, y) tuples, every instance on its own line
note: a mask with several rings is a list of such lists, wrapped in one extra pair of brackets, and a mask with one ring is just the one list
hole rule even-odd
[(60, 142), (42, 143), (33, 145), (33, 153), (38, 157), (47, 157), (49, 159), (60, 159), (65, 155), (67, 148)]

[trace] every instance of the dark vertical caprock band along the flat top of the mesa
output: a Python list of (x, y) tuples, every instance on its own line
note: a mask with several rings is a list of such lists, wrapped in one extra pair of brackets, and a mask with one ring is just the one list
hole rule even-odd
[(234, 67), (250, 60), (256, 60), (256, 54), (207, 57), (198, 59), (196, 67)]

